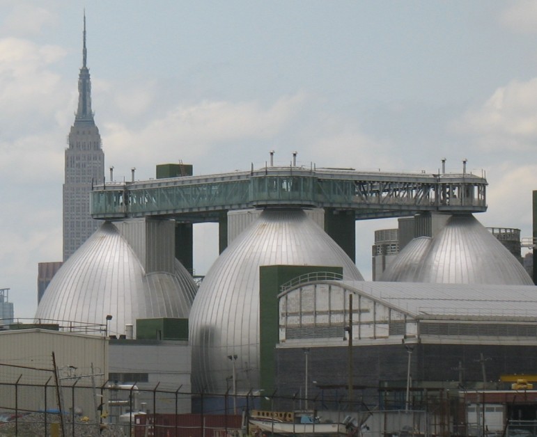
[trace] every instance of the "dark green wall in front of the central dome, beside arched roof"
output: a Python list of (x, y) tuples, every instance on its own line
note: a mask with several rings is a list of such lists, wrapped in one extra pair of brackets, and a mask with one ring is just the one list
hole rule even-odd
[(316, 271), (343, 275), (343, 267), (322, 266), (265, 266), (259, 268), (259, 340), (261, 388), (274, 391), (276, 360), (274, 348), (279, 342), (279, 308), (277, 296), (280, 286), (297, 276)]

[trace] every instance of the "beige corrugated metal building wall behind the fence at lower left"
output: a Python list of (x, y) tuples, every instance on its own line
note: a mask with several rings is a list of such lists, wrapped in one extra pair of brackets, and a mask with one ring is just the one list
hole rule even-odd
[[(95, 335), (79, 335), (40, 329), (4, 331), (0, 333), (0, 405), (20, 410), (42, 411), (45, 408), (58, 408), (54, 379), (52, 353), (56, 358), (61, 386), (64, 392), (63, 409), (72, 408), (70, 389), (88, 387), (87, 396), (75, 399), (75, 406), (91, 413), (93, 405), (92, 365), (95, 385), (100, 387), (108, 373), (107, 340)], [(20, 367), (13, 367), (20, 366)], [(47, 371), (48, 370), (48, 371)], [(75, 378), (75, 376), (77, 376)], [(15, 389), (15, 383), (18, 386)], [(45, 390), (31, 384), (45, 385)], [(91, 388), (91, 389), (89, 389)], [(82, 392), (82, 389), (79, 390)]]

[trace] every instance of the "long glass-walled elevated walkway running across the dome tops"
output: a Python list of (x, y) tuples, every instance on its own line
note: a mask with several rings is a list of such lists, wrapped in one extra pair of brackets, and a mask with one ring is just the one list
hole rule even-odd
[(221, 175), (103, 184), (91, 192), (93, 218), (182, 216), (216, 221), (219, 212), (255, 207), (350, 209), (356, 218), (427, 211), (484, 212), (485, 177), (268, 167)]

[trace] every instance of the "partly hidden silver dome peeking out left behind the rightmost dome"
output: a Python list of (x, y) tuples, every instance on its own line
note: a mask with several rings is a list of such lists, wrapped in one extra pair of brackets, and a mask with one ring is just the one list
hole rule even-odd
[(418, 237), (410, 241), (382, 273), (380, 280), (400, 283), (419, 282), (423, 258), (427, 255), (430, 242), (430, 237)]

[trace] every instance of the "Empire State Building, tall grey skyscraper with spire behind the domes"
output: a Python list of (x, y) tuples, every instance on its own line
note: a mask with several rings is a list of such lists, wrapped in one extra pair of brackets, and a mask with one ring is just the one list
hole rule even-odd
[(78, 79), (78, 108), (65, 149), (63, 184), (63, 261), (67, 260), (98, 228), (89, 211), (92, 183), (104, 180), (101, 136), (91, 111), (91, 81), (86, 65), (86, 15), (82, 67)]

